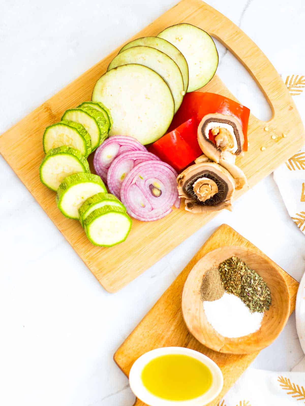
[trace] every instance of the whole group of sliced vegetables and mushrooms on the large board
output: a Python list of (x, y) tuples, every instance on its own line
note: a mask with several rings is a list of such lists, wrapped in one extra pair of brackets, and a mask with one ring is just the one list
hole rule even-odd
[[(207, 32), (168, 27), (127, 43), (97, 81), (92, 101), (46, 128), (41, 182), (93, 244), (123, 242), (131, 217), (159, 220), (181, 198), (189, 212), (231, 209), (234, 191), (247, 184), (235, 158), (247, 150), (250, 110), (196, 92), (217, 66)], [(96, 174), (87, 161), (93, 151)]]

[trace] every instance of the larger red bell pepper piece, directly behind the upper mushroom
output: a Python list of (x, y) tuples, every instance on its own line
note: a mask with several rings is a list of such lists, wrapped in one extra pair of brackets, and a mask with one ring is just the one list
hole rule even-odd
[(216, 95), (215, 93), (187, 93), (183, 98), (179, 110), (174, 115), (169, 131), (174, 130), (174, 128), (178, 127), (191, 117), (194, 117), (196, 125), (198, 126), (202, 118), (210, 113), (228, 114), (236, 117), (240, 121), (242, 132), (244, 133), (244, 150), (247, 151), (247, 131), (250, 110), (228, 97)]

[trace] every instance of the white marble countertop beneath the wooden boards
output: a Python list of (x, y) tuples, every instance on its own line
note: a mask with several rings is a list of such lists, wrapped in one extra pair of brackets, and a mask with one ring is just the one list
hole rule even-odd
[[(176, 0), (17, 0), (0, 4), (0, 133), (152, 22)], [(303, 0), (210, 0), (279, 73), (305, 69)], [(219, 46), (219, 45), (218, 45)], [(261, 119), (270, 109), (219, 46), (218, 74)], [(22, 134), (20, 134), (22, 137)], [(251, 140), (250, 140), (251, 142)], [(218, 225), (226, 222), (295, 279), (304, 235), (272, 176), (116, 294), (108, 294), (0, 157), (0, 404), (129, 406), (113, 353)], [(253, 367), (290, 370), (301, 358), (294, 315)]]

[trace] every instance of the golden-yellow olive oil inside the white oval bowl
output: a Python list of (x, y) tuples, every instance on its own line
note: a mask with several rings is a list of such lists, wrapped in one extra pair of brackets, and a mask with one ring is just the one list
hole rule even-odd
[(210, 369), (188, 355), (168, 354), (151, 360), (142, 371), (142, 382), (155, 396), (166, 400), (191, 400), (212, 384)]

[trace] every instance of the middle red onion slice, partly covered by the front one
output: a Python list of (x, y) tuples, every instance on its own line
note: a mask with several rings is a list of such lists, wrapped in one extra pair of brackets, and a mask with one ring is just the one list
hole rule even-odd
[(118, 155), (111, 162), (107, 173), (107, 185), (110, 192), (120, 199), (123, 180), (131, 169), (142, 162), (151, 160), (160, 161), (160, 158), (148, 151), (127, 151)]

